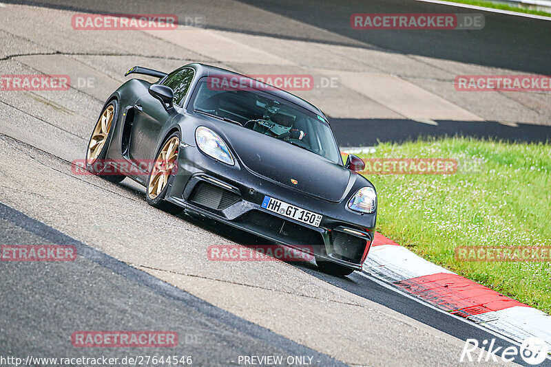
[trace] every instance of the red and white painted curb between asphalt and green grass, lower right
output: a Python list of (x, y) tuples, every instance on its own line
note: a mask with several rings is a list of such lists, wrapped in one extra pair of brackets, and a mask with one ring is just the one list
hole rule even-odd
[(516, 342), (539, 337), (551, 351), (551, 315), (430, 263), (378, 232), (364, 271)]

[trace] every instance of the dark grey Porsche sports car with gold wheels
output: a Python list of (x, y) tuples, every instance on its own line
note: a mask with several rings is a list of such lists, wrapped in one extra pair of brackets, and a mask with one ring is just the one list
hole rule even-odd
[(107, 99), (87, 148), (88, 170), (115, 182), (134, 179), (157, 208), (313, 252), (330, 274), (362, 269), (377, 194), (355, 172), (362, 159), (349, 155), (343, 164), (320, 109), (198, 63), (170, 74), (144, 67), (128, 74), (159, 80), (128, 80)]

